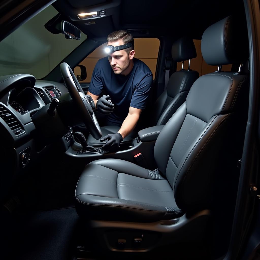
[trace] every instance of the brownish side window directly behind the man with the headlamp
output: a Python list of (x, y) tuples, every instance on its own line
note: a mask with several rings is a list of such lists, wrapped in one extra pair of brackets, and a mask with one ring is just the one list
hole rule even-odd
[[(102, 44), (90, 53), (81, 63), (87, 69), (87, 78), (81, 82), (90, 82), (94, 67), (97, 61), (106, 56), (104, 48), (107, 43)], [(143, 61), (155, 76), (157, 57), (159, 51), (160, 41), (157, 38), (136, 38), (134, 39), (134, 57)]]

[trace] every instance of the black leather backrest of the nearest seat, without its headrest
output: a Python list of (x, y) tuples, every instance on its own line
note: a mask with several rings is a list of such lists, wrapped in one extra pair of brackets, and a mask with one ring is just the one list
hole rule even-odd
[(209, 206), (215, 171), (212, 165), (217, 164), (217, 158), (224, 160), (217, 153), (219, 147), (232, 150), (234, 144), (226, 137), (231, 138), (234, 131), (241, 130), (240, 124), (244, 125), (234, 113), (246, 109), (242, 97), (247, 87), (247, 75), (226, 72), (199, 77), (186, 102), (160, 132), (154, 158), (172, 186), (180, 209)]

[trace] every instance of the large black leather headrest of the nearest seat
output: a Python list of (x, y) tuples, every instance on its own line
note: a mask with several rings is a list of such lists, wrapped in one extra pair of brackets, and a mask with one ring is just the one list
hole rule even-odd
[(203, 59), (209, 65), (225, 65), (248, 59), (246, 22), (228, 16), (208, 27), (201, 39)]

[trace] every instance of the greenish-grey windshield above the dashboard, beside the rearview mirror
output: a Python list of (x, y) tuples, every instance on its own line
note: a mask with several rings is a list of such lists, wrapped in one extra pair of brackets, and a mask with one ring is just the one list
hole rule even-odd
[(82, 32), (78, 41), (46, 30), (57, 13), (49, 5), (0, 42), (0, 76), (27, 73), (41, 79), (86, 40)]

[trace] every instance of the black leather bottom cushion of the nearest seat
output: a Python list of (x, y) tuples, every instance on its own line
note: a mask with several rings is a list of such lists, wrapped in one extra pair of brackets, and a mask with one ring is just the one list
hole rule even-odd
[(106, 214), (107, 220), (153, 222), (183, 215), (164, 177), (119, 159), (88, 164), (78, 181), (75, 197), (79, 215), (88, 219)]

